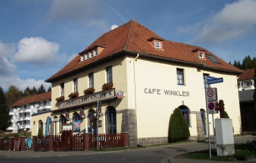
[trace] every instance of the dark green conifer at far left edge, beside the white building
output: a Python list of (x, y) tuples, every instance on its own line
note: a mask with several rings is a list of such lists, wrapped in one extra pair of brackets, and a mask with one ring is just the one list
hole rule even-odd
[(0, 117), (0, 130), (6, 131), (11, 125), (11, 116), (9, 115), (9, 107), (2, 87), (0, 87)]

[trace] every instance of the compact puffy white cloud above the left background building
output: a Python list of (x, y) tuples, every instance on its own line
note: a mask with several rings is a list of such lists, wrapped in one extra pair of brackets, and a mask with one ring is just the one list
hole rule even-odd
[(58, 57), (59, 44), (44, 38), (23, 38), (18, 43), (18, 51), (11, 57), (13, 62), (46, 64)]

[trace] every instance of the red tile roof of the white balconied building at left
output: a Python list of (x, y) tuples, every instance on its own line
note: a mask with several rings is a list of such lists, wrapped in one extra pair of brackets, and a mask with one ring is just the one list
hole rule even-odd
[(41, 93), (34, 96), (24, 97), (19, 101), (17, 101), (16, 103), (13, 103), (13, 105), (11, 105), (10, 107), (18, 107), (20, 105), (26, 105), (30, 103), (36, 103), (39, 101), (51, 100), (51, 93), (52, 92), (47, 92), (47, 93)]

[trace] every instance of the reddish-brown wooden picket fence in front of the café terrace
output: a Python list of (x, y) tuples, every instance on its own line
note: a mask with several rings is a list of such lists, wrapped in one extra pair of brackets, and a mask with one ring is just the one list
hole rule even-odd
[[(13, 150), (13, 138), (9, 141), (0, 138), (0, 150)], [(99, 134), (98, 149), (119, 148), (128, 146), (128, 133)], [(32, 137), (32, 151), (82, 151), (97, 148), (97, 137), (94, 134), (47, 135)], [(26, 150), (25, 138), (20, 138), (20, 151)]]

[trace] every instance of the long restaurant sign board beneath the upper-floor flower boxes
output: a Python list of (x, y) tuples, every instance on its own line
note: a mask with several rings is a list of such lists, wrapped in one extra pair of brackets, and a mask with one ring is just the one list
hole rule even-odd
[(110, 89), (108, 91), (102, 91), (102, 92), (98, 92), (98, 93), (93, 93), (91, 95), (77, 97), (75, 99), (61, 101), (61, 102), (59, 102), (59, 109), (84, 105), (86, 103), (96, 103), (97, 95), (98, 95), (99, 101), (102, 101), (105, 99), (113, 99), (113, 98), (115, 98), (115, 89)]

